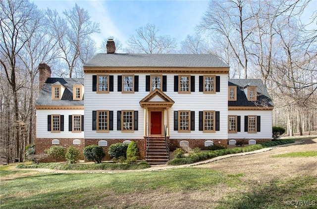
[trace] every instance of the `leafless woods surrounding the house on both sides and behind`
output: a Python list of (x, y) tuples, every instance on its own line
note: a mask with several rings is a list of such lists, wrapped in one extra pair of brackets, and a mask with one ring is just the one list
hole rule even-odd
[(23, 161), (25, 146), (34, 143), (39, 64), (50, 65), (52, 77), (83, 77), (83, 64), (106, 52), (108, 38), (117, 53), (215, 54), (230, 66), (230, 78), (263, 80), (275, 105), (273, 124), (287, 135), (317, 131), (316, 8), (308, 22), (301, 19), (310, 1), (211, 0), (196, 34), (178, 43), (149, 23), (123, 48), (115, 37), (96, 46), (99, 23), (77, 4), (59, 14), (29, 0), (1, 0), (1, 164)]

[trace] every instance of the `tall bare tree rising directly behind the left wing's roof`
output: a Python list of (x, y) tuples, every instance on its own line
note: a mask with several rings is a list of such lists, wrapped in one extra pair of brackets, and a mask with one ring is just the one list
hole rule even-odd
[(94, 44), (90, 45), (93, 42), (89, 39), (90, 35), (99, 33), (100, 29), (99, 23), (90, 21), (88, 11), (77, 4), (71, 10), (65, 10), (63, 15), (65, 18), (60, 17), (56, 10), (47, 9), (49, 27), (52, 30), (50, 34), (58, 42), (60, 58), (66, 63), (68, 70), (65, 73), (71, 78), (76, 62), (85, 64), (87, 58), (91, 57), (90, 54), (95, 53), (96, 48)]

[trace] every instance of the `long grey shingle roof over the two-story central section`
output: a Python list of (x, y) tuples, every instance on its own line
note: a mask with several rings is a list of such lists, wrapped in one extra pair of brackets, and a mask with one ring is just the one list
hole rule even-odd
[(84, 67), (229, 67), (213, 54), (98, 53)]

